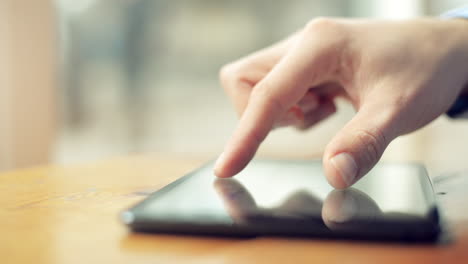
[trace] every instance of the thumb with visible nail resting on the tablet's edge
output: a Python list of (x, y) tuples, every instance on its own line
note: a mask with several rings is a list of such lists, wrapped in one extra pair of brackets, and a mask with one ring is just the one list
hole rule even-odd
[(327, 145), (323, 168), (333, 187), (343, 189), (358, 181), (395, 138), (395, 113), (377, 105), (363, 105)]

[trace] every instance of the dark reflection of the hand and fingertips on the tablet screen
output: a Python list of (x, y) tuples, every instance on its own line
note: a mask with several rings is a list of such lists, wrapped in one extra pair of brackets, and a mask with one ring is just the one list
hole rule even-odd
[(310, 192), (299, 190), (272, 207), (258, 205), (249, 190), (234, 178), (216, 179), (214, 189), (234, 224), (241, 226), (299, 224), (314, 228), (322, 225), (330, 231), (359, 231), (360, 228), (385, 227), (389, 220), (424, 221), (416, 215), (383, 213), (371, 197), (355, 188), (331, 190), (323, 201)]

